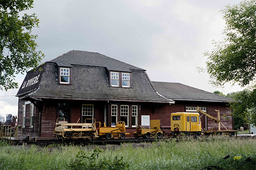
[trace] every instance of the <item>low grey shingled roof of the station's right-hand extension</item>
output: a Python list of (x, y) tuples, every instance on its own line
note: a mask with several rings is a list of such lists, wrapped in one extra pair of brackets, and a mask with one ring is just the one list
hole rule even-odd
[(233, 99), (214, 94), (208, 91), (193, 88), (177, 82), (154, 82), (152, 84), (156, 91), (172, 100), (195, 100), (212, 102), (231, 102)]

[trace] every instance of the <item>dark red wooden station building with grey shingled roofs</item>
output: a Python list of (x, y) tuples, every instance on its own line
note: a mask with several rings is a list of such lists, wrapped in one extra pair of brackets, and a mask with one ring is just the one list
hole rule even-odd
[[(51, 137), (56, 118), (84, 122), (95, 118), (107, 126), (124, 121), (133, 133), (136, 125), (160, 119), (170, 127), (173, 112), (195, 111), (196, 107), (233, 128), (232, 99), (180, 83), (151, 82), (145, 70), (105, 55), (69, 51), (29, 71), (17, 93), (18, 125), (23, 134)], [(202, 128), (211, 129), (212, 120), (202, 115)]]

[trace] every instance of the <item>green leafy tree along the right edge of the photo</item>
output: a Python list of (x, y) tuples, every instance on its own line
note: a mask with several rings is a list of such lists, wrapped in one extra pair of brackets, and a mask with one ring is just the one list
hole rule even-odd
[[(226, 21), (224, 40), (215, 41), (213, 50), (205, 52), (207, 72), (212, 85), (233, 82), (244, 87), (256, 78), (256, 1), (228, 5), (222, 13)], [(255, 94), (253, 86), (252, 91), (243, 91), (231, 104), (236, 114), (244, 119), (250, 116), (251, 122), (256, 122)]]

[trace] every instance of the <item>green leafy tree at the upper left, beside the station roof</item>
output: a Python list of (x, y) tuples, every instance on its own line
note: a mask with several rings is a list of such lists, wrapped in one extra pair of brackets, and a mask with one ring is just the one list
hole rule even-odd
[(15, 75), (35, 68), (44, 57), (36, 51), (37, 35), (32, 28), (38, 27), (35, 14), (20, 12), (32, 8), (33, 0), (0, 0), (0, 89), (17, 88)]

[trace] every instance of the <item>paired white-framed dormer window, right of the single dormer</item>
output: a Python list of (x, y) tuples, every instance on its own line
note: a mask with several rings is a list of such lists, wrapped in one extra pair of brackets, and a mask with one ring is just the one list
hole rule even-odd
[(110, 72), (110, 86), (111, 87), (122, 87), (130, 88), (131, 87), (131, 74), (122, 73), (122, 72)]

